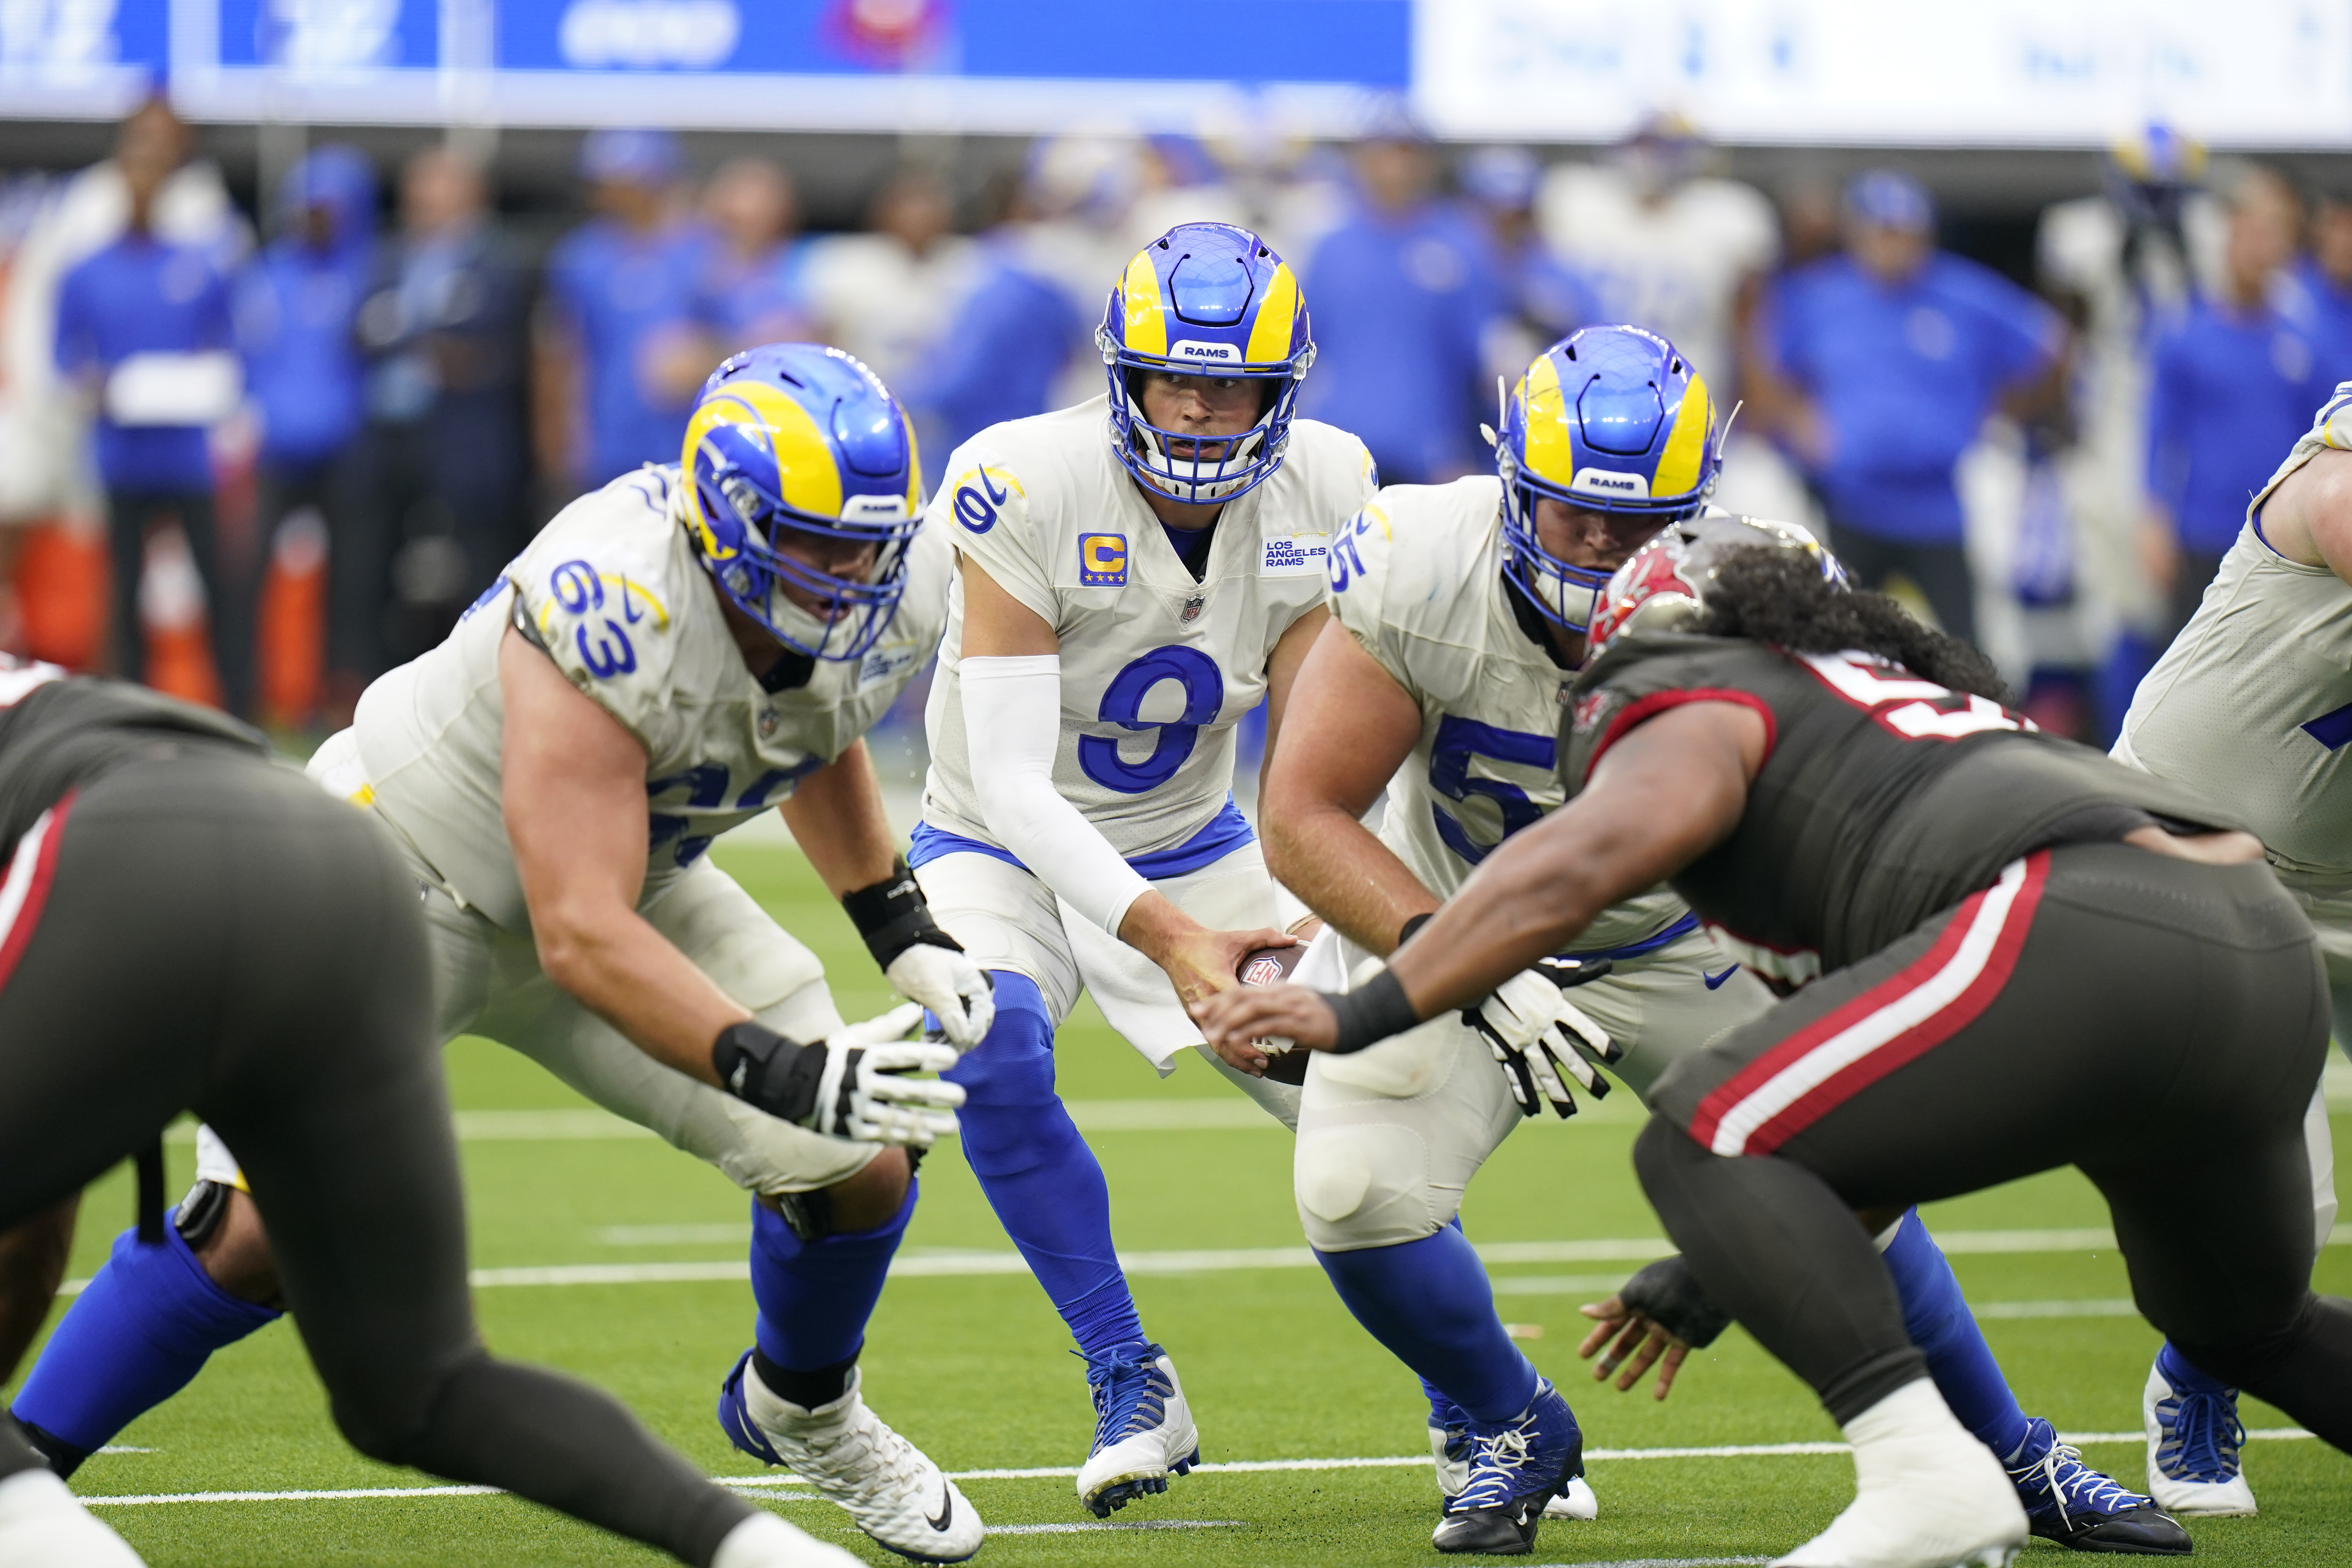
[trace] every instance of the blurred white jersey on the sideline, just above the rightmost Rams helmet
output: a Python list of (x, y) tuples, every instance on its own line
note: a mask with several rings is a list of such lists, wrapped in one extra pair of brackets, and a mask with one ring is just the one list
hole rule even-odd
[(1559, 162), (1543, 176), (1536, 221), (1592, 284), (1602, 320), (1649, 327), (1712, 386), (1731, 386), (1731, 301), (1780, 254), (1780, 221), (1762, 190), (1689, 179), (1644, 202), (1623, 169)]

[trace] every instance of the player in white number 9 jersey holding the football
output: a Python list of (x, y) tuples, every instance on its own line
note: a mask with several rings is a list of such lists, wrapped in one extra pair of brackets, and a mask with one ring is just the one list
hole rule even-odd
[[(1054, 1030), (1084, 987), (1169, 1072), (1202, 1044), (1181, 999), (1289, 943), (1232, 804), (1232, 731), (1265, 701), (1277, 750), (1324, 621), (1327, 541), (1374, 480), (1359, 440), (1291, 416), (1308, 313), (1249, 230), (1152, 240), (1096, 343), (1108, 402), (983, 430), (931, 501), (962, 571), (910, 860), (995, 980), (995, 1027), (950, 1074), (964, 1159), (1087, 1356), (1077, 1495), (1108, 1516), (1167, 1490), (1200, 1439), (1112, 1253), (1103, 1171), (1054, 1095)], [(1296, 1088), (1218, 1070), (1294, 1121)]]

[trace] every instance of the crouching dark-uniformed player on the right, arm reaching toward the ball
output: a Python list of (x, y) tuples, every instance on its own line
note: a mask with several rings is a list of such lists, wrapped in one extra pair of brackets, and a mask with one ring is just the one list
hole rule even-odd
[(2352, 1446), (2352, 1302), (2312, 1295), (2305, 1208), (2326, 987), (2260, 844), (2034, 733), (1983, 656), (1849, 592), (1797, 529), (1675, 524), (1611, 578), (1595, 649), (1569, 804), (1357, 990), (1209, 997), (1209, 1037), (1362, 1048), (1661, 877), (1743, 961), (1818, 976), (1661, 1074), (1635, 1166), (1684, 1255), (1613, 1314), (1691, 1340), (1712, 1298), (1839, 1420), (1856, 1500), (1785, 1568), (1990, 1568), (2025, 1542), (1870, 1234), (2060, 1164), (2105, 1192), (2159, 1328)]

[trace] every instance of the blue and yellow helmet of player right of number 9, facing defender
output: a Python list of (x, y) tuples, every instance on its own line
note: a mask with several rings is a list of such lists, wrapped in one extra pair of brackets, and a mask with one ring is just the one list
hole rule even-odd
[(1715, 400), (1656, 331), (1585, 327), (1519, 376), (1494, 463), (1503, 477), (1505, 571), (1548, 621), (1581, 632), (1611, 569), (1545, 550), (1536, 501), (1646, 517), (1661, 529), (1696, 517), (1722, 463)]

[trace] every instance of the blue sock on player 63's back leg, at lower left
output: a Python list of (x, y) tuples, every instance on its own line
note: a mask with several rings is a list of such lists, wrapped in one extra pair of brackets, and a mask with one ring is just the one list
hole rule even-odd
[(141, 1246), (136, 1229), (115, 1237), (113, 1258), (73, 1300), (16, 1389), (16, 1420), (96, 1453), (188, 1387), (212, 1352), (280, 1316), (212, 1284), (174, 1213), (162, 1220), (162, 1246)]

